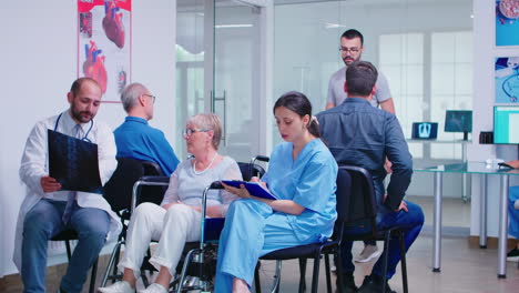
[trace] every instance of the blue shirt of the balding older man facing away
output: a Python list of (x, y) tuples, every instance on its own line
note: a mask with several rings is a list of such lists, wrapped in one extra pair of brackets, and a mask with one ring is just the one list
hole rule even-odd
[(171, 175), (179, 159), (164, 133), (150, 127), (147, 121), (138, 117), (126, 117), (115, 131), (116, 158), (133, 158), (157, 163), (165, 175)]

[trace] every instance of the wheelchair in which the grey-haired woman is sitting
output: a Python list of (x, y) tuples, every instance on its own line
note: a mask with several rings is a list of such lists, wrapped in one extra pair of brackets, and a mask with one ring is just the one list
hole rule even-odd
[[(265, 173), (264, 168), (256, 164), (256, 161), (268, 161), (266, 156), (255, 156), (251, 162), (238, 162), (240, 170), (244, 180), (250, 180), (252, 176), (262, 176)], [(131, 208), (128, 212), (128, 219), (131, 213), (135, 210), (136, 205), (144, 202), (141, 199), (141, 189), (143, 186), (163, 186), (167, 188), (170, 178), (167, 176), (142, 176), (140, 178), (132, 188)], [(206, 219), (206, 196), (210, 190), (220, 190), (223, 186), (220, 181), (215, 181), (205, 188), (202, 194), (202, 222), (201, 222), (201, 240), (197, 242), (186, 242), (184, 246), (183, 255), (176, 267), (176, 275), (173, 276), (170, 283), (170, 292), (211, 292), (213, 290), (213, 281), (216, 273), (216, 252), (217, 252), (217, 240), (220, 232), (224, 225), (224, 219)], [(105, 286), (108, 280), (115, 282), (122, 279), (122, 274), (118, 274), (116, 264), (119, 263), (119, 255), (121, 247), (125, 244), (125, 234), (115, 244), (112, 255), (109, 260), (105, 274), (103, 276), (101, 286)], [(144, 286), (149, 286), (146, 272), (153, 274), (155, 267), (151, 265), (147, 260), (151, 257), (149, 250), (147, 256), (141, 266), (141, 279)], [(113, 274), (110, 272), (113, 270)]]

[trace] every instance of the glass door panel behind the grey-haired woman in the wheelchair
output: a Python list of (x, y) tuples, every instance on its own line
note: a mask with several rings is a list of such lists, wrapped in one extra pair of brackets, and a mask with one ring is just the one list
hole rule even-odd
[[(177, 0), (176, 6), (176, 127), (184, 128), (193, 114), (214, 112), (223, 123), (218, 151), (250, 161), (265, 149), (260, 124), (265, 72), (258, 70), (265, 60), (260, 41), (265, 9), (231, 0)], [(185, 142), (179, 139), (174, 146), (185, 158)]]

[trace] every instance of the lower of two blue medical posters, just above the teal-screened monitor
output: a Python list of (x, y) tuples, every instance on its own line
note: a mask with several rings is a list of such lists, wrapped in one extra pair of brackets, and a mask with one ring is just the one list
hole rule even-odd
[(519, 103), (519, 55), (495, 60), (496, 103)]

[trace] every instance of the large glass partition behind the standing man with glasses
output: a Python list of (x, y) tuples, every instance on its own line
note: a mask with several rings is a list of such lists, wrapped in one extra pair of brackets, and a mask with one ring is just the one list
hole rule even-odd
[[(438, 122), (445, 133), (446, 110), (470, 110), (472, 94), (471, 0), (295, 1), (274, 0), (274, 99), (298, 90), (314, 111), (325, 109), (328, 80), (344, 67), (340, 34), (364, 34), (363, 60), (388, 81), (406, 138), (413, 122)], [(438, 16), (441, 16), (439, 20)], [(278, 135), (274, 131), (274, 142)], [(460, 160), (461, 144), (409, 143), (415, 158)]]

